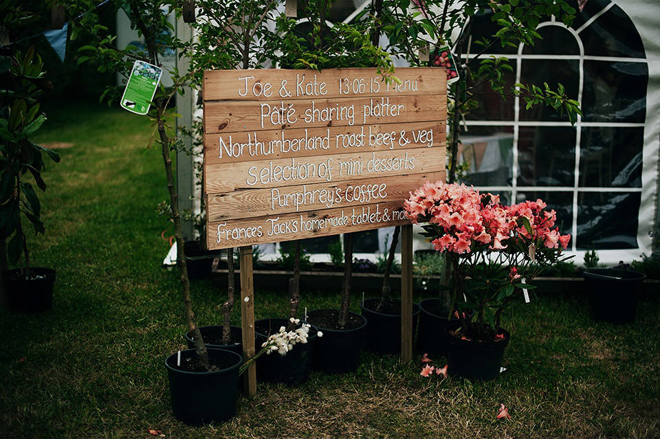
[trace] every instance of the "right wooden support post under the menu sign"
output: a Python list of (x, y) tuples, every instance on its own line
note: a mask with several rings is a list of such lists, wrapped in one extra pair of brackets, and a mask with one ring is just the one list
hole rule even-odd
[(412, 224), (401, 226), (401, 361), (412, 361)]

